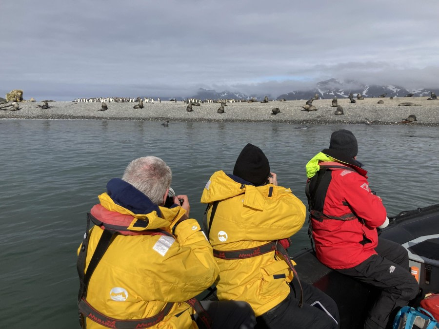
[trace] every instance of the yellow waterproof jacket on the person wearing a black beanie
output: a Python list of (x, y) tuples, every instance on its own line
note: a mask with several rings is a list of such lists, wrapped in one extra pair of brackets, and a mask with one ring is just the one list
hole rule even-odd
[[(209, 242), (219, 251), (257, 248), (288, 238), (305, 221), (305, 206), (290, 189), (243, 185), (223, 171), (211, 176), (201, 196), (202, 203), (219, 200), (209, 234)], [(208, 223), (211, 211), (212, 207)], [(278, 305), (290, 291), (293, 273), (274, 251), (237, 260), (215, 259), (220, 267), (219, 299), (246, 301), (256, 316)]]

